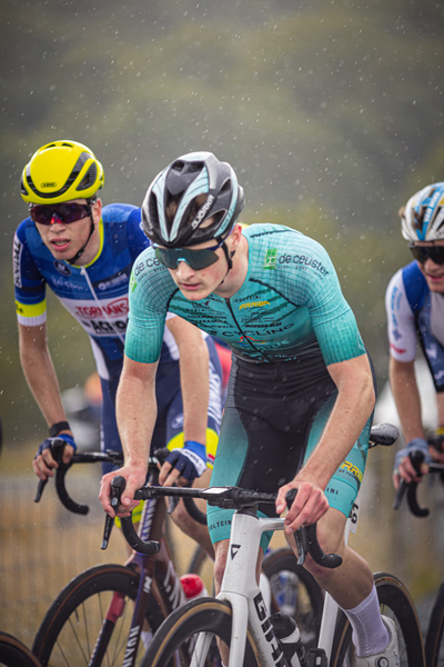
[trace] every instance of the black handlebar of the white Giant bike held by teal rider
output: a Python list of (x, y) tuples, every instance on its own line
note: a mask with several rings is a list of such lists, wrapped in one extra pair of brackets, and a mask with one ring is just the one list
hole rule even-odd
[[(124, 489), (125, 480), (123, 477), (114, 477), (111, 484), (112, 488), (112, 500), (111, 505), (113, 508), (120, 504), (120, 495)], [(286, 495), (286, 504), (290, 508), (297, 489), (292, 489)], [(142, 487), (134, 494), (135, 499), (149, 500), (159, 497), (176, 497), (176, 498), (202, 498), (208, 501), (209, 505), (215, 505), (223, 509), (243, 509), (245, 507), (256, 506), (260, 502), (275, 502), (276, 494), (261, 494), (258, 491), (250, 491), (246, 489), (240, 489), (238, 487), (210, 487), (208, 489), (193, 489), (186, 487)], [(105, 520), (105, 532), (107, 526), (109, 525), (110, 517)], [(112, 519), (111, 519), (112, 521)], [(131, 517), (121, 519), (123, 535), (127, 538), (128, 544), (131, 548), (135, 549), (140, 554), (155, 554), (159, 550), (159, 542), (148, 541), (144, 542), (140, 539), (139, 535), (134, 530)], [(303, 564), (306, 554), (311, 554), (313, 559), (323, 567), (334, 568), (339, 567), (342, 563), (342, 558), (339, 554), (324, 554), (321, 549), (317, 537), (316, 537), (316, 525), (302, 527), (295, 532), (296, 544), (299, 549), (300, 565)], [(105, 540), (104, 540), (105, 541)], [(105, 548), (102, 546), (102, 548)]]

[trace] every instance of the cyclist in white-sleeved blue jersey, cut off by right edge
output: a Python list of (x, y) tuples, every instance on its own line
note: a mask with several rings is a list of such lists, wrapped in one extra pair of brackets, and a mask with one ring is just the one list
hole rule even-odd
[(414, 371), (420, 341), (436, 390), (436, 445), (444, 440), (444, 182), (413, 195), (400, 210), (402, 235), (414, 260), (400, 269), (385, 295), (390, 342), (390, 382), (406, 446), (396, 454), (393, 481), (420, 481), (408, 454), (424, 455), (421, 474), (444, 454), (427, 445)]

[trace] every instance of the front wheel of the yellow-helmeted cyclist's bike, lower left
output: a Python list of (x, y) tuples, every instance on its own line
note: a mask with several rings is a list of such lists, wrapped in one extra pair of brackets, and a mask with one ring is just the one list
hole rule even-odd
[[(138, 588), (139, 574), (121, 565), (99, 565), (72, 579), (36, 635), (32, 653), (42, 667), (121, 667), (133, 613), (133, 605), (127, 603), (135, 599)], [(112, 614), (108, 614), (111, 603)], [(164, 619), (154, 595), (145, 617), (154, 634)], [(134, 665), (140, 665), (144, 650), (140, 641)]]

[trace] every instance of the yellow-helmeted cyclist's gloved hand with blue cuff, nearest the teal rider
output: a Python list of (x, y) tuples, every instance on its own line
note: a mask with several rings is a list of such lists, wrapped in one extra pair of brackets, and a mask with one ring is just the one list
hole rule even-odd
[(206, 449), (204, 445), (186, 440), (182, 449), (173, 449), (163, 464), (159, 482), (162, 486), (184, 486), (203, 475), (206, 470)]

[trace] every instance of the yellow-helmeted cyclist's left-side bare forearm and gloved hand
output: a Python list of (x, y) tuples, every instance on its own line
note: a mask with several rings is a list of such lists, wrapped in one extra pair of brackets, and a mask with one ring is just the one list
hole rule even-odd
[[(60, 396), (59, 381), (47, 342), (46, 325), (27, 327), (19, 323), (20, 362), (28, 386), (39, 406), (48, 427), (60, 421), (68, 421)], [(61, 432), (71, 434), (70, 430)], [(73, 454), (73, 448), (67, 445), (63, 450), (63, 461), (68, 462)], [(40, 479), (52, 477), (51, 468), (58, 464), (51, 456), (50, 449), (37, 456), (33, 460), (36, 475)]]

